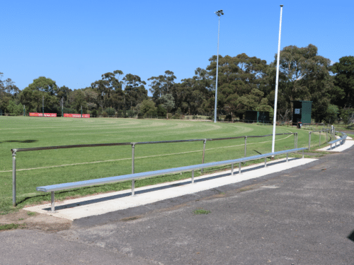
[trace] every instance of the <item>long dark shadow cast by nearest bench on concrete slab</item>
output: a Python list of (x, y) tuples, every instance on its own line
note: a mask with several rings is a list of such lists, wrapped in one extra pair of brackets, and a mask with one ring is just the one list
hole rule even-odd
[[(291, 161), (291, 160), (297, 160), (297, 159), (301, 159), (301, 158), (289, 158), (288, 160)], [(286, 163), (286, 160), (267, 163), (267, 167), (272, 167), (274, 165), (279, 165), (279, 164), (282, 164), (282, 163)], [(251, 172), (252, 170), (258, 170), (258, 169), (261, 169), (263, 167), (264, 167), (264, 165), (258, 165), (257, 167), (252, 167), (252, 168), (245, 169), (245, 170), (242, 170), (242, 167), (241, 167), (241, 174), (244, 173), (244, 172)], [(239, 174), (238, 167), (234, 167), (234, 176), (236, 177), (238, 174)], [(219, 175), (210, 176), (210, 177), (202, 177), (202, 176), (200, 176), (200, 177), (198, 177), (198, 179), (194, 179), (194, 182), (195, 183), (204, 182), (206, 180), (217, 179), (219, 177), (227, 177), (227, 176), (231, 176), (231, 172), (230, 173), (229, 172), (227, 172), (227, 173), (220, 172)], [(154, 188), (150, 188), (150, 189), (144, 189), (144, 190), (141, 190), (141, 191), (135, 191), (135, 194), (136, 195), (144, 194), (144, 193), (147, 193), (147, 192), (154, 192), (154, 191), (159, 191), (159, 190), (163, 190), (163, 189), (169, 189), (171, 187), (178, 187), (178, 186), (182, 186), (182, 185), (185, 185), (185, 184), (191, 184), (191, 180), (190, 179), (186, 179), (183, 182), (178, 182), (178, 183), (173, 183), (173, 184), (166, 184), (165, 186), (161, 186), (161, 187), (154, 187)], [(109, 200), (112, 200), (112, 199), (125, 198), (125, 197), (129, 197), (129, 196), (132, 196), (132, 192), (125, 192), (123, 194), (116, 194), (116, 195), (113, 195), (113, 196), (107, 196), (107, 197), (98, 198), (98, 199), (91, 199), (91, 200), (87, 200), (87, 201), (81, 201), (79, 203), (74, 203), (74, 204), (56, 205), (55, 206), (55, 211), (66, 209), (66, 208), (74, 208), (74, 207), (77, 207), (77, 206), (84, 206), (84, 205), (88, 205), (88, 204), (96, 204), (96, 203), (101, 202), (101, 201), (109, 201)], [(50, 209), (50, 207), (48, 207), (48, 208), (42, 208), (42, 210), (50, 211), (51, 209)]]

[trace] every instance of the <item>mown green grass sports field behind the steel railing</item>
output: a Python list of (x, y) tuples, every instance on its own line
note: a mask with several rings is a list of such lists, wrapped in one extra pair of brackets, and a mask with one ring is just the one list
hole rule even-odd
[[(11, 148), (64, 146), (86, 143), (120, 143), (184, 139), (212, 139), (272, 134), (273, 126), (149, 119), (79, 119), (0, 117), (0, 213), (13, 211)], [(276, 133), (298, 133), (298, 147), (308, 146), (308, 131), (277, 126)], [(321, 135), (321, 143), (326, 134)], [(312, 134), (312, 146), (319, 135)], [(269, 153), (272, 137), (247, 139), (247, 156)], [(202, 163), (202, 141), (135, 146), (135, 172)], [(294, 136), (276, 136), (275, 151), (294, 148)], [(207, 141), (205, 163), (241, 158), (244, 139)], [(254, 163), (254, 162), (253, 162)], [(18, 152), (16, 155), (16, 208), (50, 201), (38, 186), (112, 177), (132, 172), (131, 146), (105, 146)], [(216, 168), (212, 170), (222, 170)], [(200, 172), (195, 172), (195, 176)], [(190, 173), (138, 179), (135, 187), (190, 177)], [(56, 199), (130, 189), (131, 182), (56, 192)]]

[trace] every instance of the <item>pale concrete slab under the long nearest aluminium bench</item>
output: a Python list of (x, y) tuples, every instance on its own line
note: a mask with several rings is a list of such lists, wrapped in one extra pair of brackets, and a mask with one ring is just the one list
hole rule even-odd
[(194, 184), (191, 183), (191, 179), (183, 179), (175, 182), (136, 188), (135, 196), (131, 196), (131, 190), (124, 190), (120, 192), (110, 192), (108, 194), (85, 196), (79, 199), (56, 202), (56, 213), (50, 213), (50, 204), (41, 204), (38, 206), (25, 207), (23, 209), (26, 211), (45, 213), (50, 216), (66, 218), (69, 220), (88, 216), (98, 216), (104, 213), (110, 213), (122, 209), (151, 204), (164, 199), (183, 196), (185, 194), (202, 192), (207, 189), (242, 182), (247, 179), (263, 177), (264, 175), (311, 163), (314, 160), (316, 159), (289, 158), (289, 162), (286, 162), (286, 159), (283, 158), (279, 160), (267, 161), (267, 167), (264, 167), (264, 163), (241, 167), (241, 174), (239, 174), (238, 165), (235, 165), (234, 175), (231, 175), (231, 170), (217, 172), (211, 175), (202, 175), (200, 177), (195, 177)]

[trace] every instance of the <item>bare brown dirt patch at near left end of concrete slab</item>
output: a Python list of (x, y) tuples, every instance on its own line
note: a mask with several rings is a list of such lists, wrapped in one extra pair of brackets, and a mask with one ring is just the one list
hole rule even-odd
[(59, 232), (67, 230), (72, 226), (71, 220), (25, 210), (0, 216), (0, 226), (11, 223), (20, 225), (18, 228), (42, 230), (47, 232)]

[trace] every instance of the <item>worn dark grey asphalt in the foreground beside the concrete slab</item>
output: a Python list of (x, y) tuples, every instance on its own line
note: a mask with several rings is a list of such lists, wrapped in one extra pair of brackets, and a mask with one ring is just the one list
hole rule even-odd
[(0, 264), (354, 264), (353, 170), (350, 147), (69, 230), (1, 232)]

